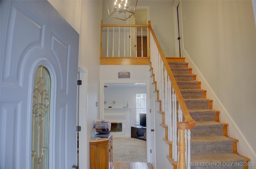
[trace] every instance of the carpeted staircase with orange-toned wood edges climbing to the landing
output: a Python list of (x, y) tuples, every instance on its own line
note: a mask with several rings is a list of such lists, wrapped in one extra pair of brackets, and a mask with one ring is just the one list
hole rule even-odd
[[(168, 64), (188, 111), (196, 121), (196, 127), (190, 130), (191, 169), (248, 169), (244, 163), (250, 159), (238, 154), (238, 140), (228, 137), (228, 124), (219, 121), (220, 111), (212, 110), (212, 100), (206, 98), (206, 90), (201, 89), (192, 69), (180, 59), (172, 58)], [(171, 147), (172, 143), (168, 144)], [(171, 156), (168, 159), (175, 169), (177, 162)]]

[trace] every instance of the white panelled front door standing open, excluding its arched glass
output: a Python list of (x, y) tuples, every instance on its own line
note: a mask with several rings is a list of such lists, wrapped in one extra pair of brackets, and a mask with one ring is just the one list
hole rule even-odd
[(34, 168), (34, 75), (44, 66), (50, 74), (49, 138), (44, 147), (49, 154), (44, 168), (71, 169), (77, 165), (79, 34), (46, 0), (0, 3), (0, 168)]

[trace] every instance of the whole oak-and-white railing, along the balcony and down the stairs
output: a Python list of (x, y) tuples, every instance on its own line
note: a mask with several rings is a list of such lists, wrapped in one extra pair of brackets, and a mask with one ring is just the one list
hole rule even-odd
[[(124, 29), (121, 29), (121, 27)], [(140, 33), (138, 33), (138, 28)], [(138, 35), (144, 37), (143, 28), (146, 28), (145, 32), (147, 32), (147, 56), (144, 56), (145, 48), (139, 50), (141, 56), (138, 56), (138, 40), (136, 39)], [(140, 43), (143, 46), (143, 42), (140, 41)], [(107, 61), (113, 58), (114, 61)], [(152, 74), (154, 74), (153, 81), (160, 103), (159, 112), (164, 114), (162, 125), (167, 126), (167, 134), (164, 139), (172, 143), (172, 152), (167, 155), (168, 159), (173, 165), (177, 165), (178, 169), (190, 169), (189, 165), (185, 166), (184, 164), (190, 163), (190, 129), (195, 127), (196, 122), (188, 112), (177, 82), (151, 27), (151, 22), (148, 21), (148, 25), (102, 24), (101, 64), (104, 64), (103, 62), (116, 64), (118, 60), (143, 58), (150, 59), (147, 62), (150, 63)]]

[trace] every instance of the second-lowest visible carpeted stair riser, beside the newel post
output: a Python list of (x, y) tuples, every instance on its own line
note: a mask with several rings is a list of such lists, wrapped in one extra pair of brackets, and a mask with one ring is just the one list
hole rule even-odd
[(222, 127), (195, 127), (190, 131), (191, 137), (223, 136)]

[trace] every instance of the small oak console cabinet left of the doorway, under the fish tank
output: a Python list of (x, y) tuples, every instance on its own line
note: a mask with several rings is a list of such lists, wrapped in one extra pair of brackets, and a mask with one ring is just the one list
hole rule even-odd
[(90, 140), (91, 169), (113, 169), (112, 135)]

